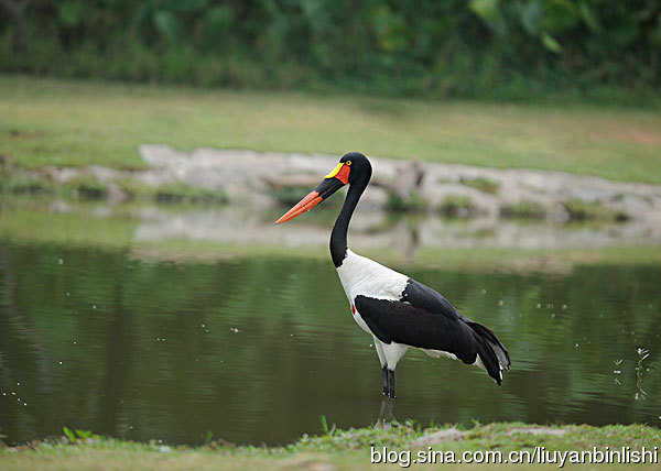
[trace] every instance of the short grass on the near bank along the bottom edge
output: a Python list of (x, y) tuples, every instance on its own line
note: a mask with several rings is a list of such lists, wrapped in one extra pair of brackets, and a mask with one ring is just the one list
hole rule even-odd
[[(524, 424), (490, 424), (463, 430), (457, 440), (445, 439), (434, 445), (411, 447), (416, 438), (437, 429), (421, 430), (411, 425), (394, 425), (389, 431), (377, 428), (334, 430), (321, 437), (304, 436), (286, 447), (234, 447), (212, 441), (204, 447), (169, 447), (159, 443), (136, 443), (109, 438), (93, 438), (67, 443), (66, 440), (33, 442), (15, 448), (0, 448), (0, 469), (11, 470), (253, 470), (253, 469), (304, 469), (304, 470), (358, 470), (370, 468), (370, 447), (375, 450), (399, 452), (433, 450), (454, 451), (460, 459), (464, 451), (499, 450), (503, 457), (512, 450), (532, 450), (545, 447), (551, 453), (557, 451), (592, 450), (598, 447), (610, 450), (629, 447), (653, 450), (661, 445), (661, 431), (643, 425), (629, 426), (554, 426), (538, 428)], [(405, 456), (404, 456), (405, 460)], [(425, 464), (425, 468), (429, 467)], [(401, 469), (400, 464), (379, 464), (378, 469)], [(481, 468), (475, 463), (436, 463), (435, 468), (472, 470)], [(557, 464), (499, 464), (498, 469), (559, 469)], [(659, 463), (638, 464), (633, 468), (658, 470)], [(619, 470), (621, 464), (575, 464), (566, 459), (563, 469)]]

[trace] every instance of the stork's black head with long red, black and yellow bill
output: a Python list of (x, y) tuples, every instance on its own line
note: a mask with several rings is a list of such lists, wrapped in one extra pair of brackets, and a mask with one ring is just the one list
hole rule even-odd
[(333, 171), (324, 177), (324, 180), (315, 189), (300, 200), (292, 209), (286, 211), (277, 224), (286, 222), (310, 211), (324, 199), (329, 198), (335, 191), (347, 184), (356, 182), (367, 182), (371, 177), (371, 164), (360, 152), (349, 152), (339, 160), (339, 163)]

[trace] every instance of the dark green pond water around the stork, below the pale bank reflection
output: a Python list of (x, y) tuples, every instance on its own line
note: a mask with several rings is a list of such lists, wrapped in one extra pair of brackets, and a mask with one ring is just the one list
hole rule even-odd
[[(474, 420), (661, 419), (661, 269), (562, 274), (394, 269), (494, 329), (512, 370), (410, 350), (393, 414)], [(638, 348), (649, 350), (638, 371)], [(0, 434), (286, 443), (376, 423), (381, 371), (329, 260), (162, 262), (129, 249), (0, 240)]]

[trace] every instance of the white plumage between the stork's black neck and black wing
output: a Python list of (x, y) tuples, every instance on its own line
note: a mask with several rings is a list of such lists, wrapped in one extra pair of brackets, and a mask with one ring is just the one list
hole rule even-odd
[(407, 275), (357, 255), (349, 249), (342, 265), (337, 267), (337, 274), (349, 303), (358, 295), (399, 300), (409, 281)]

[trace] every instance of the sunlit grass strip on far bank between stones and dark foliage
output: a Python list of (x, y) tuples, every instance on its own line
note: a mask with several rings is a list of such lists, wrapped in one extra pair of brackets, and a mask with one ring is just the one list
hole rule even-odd
[(142, 143), (359, 150), (661, 183), (661, 113), (618, 108), (311, 96), (0, 76), (0, 153), (26, 168), (142, 168)]

